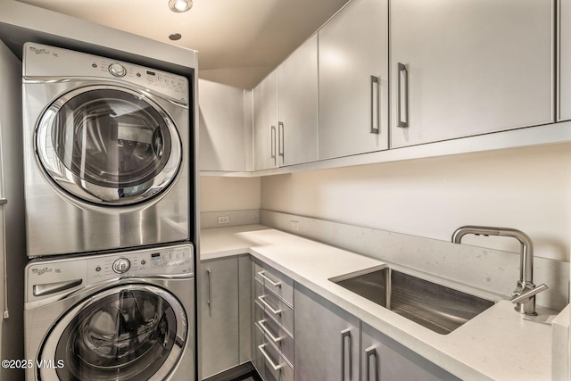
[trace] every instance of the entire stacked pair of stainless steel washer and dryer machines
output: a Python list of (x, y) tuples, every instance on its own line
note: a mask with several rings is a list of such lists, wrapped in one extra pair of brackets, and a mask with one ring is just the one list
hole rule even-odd
[(188, 80), (28, 43), (27, 380), (194, 380)]

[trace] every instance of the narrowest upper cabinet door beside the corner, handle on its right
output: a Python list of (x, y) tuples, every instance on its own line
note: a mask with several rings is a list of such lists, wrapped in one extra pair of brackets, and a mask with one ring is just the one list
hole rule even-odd
[(277, 166), (277, 70), (253, 89), (254, 170)]

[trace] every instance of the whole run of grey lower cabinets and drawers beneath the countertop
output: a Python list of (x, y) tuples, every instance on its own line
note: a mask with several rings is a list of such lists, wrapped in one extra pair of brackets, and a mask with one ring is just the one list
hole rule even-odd
[(264, 381), (459, 380), (249, 255), (200, 271), (203, 379), (252, 360)]

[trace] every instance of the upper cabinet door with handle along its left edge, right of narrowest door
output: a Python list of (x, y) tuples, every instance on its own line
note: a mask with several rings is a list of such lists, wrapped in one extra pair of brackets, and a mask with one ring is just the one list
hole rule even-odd
[(277, 68), (279, 165), (318, 159), (318, 36)]

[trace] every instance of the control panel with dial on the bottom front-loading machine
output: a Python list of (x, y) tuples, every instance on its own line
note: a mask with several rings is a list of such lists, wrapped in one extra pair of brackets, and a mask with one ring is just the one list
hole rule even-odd
[(31, 261), (26, 267), (26, 302), (58, 297), (121, 277), (192, 277), (193, 253), (192, 244), (177, 244), (121, 253)]

